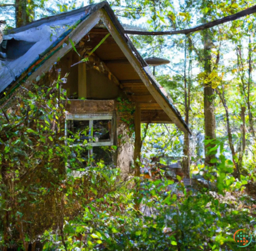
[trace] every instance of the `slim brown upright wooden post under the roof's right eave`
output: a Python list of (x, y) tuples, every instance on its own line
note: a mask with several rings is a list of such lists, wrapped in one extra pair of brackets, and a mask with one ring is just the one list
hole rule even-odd
[(141, 109), (138, 103), (135, 106), (134, 112), (134, 127), (135, 127), (135, 144), (134, 144), (134, 166), (135, 176), (140, 175), (140, 165), (137, 159), (140, 160), (141, 136), (140, 136)]

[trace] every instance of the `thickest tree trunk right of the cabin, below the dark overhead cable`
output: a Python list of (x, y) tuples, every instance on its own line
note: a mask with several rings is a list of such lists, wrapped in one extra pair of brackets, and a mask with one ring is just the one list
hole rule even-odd
[[(212, 57), (210, 47), (212, 45), (212, 37), (210, 31), (204, 32), (204, 71), (205, 76), (209, 76), (212, 72)], [(212, 140), (216, 138), (215, 135), (215, 114), (214, 114), (214, 89), (212, 83), (204, 84), (204, 130), (205, 139)], [(209, 149), (214, 147), (212, 143), (205, 144), (205, 165), (212, 165), (211, 160), (215, 158), (215, 154), (209, 153)]]

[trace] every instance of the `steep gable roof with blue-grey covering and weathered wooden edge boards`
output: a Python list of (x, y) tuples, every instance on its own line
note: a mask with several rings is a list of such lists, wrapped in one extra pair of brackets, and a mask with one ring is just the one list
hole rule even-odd
[[(167, 116), (179, 129), (190, 133), (179, 111), (172, 104), (171, 99), (162, 92), (162, 87), (150, 73), (147, 63), (124, 33), (123, 27), (106, 1), (46, 17), (4, 32), (4, 40), (12, 41), (14, 46), (17, 41), (23, 42), (23, 44), (19, 46), (21, 49), (19, 57), (15, 58), (15, 54), (10, 52), (12, 58), (8, 58), (7, 54), (4, 61), (0, 59), (0, 92), (5, 90), (7, 94), (11, 93), (23, 82), (33, 81), (47, 72), (59, 58), (71, 51), (70, 40), (77, 44), (99, 21), (102, 21), (107, 27), (150, 94)], [(22, 48), (24, 48), (23, 51)]]

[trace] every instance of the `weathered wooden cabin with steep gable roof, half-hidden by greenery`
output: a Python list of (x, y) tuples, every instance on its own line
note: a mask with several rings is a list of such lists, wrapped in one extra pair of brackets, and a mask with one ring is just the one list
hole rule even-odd
[(124, 175), (140, 154), (141, 123), (174, 123), (189, 132), (107, 2), (5, 31), (0, 61), (2, 95), (26, 82), (47, 86), (60, 75), (69, 99), (67, 137), (86, 130), (80, 140), (96, 155), (116, 145), (110, 160)]

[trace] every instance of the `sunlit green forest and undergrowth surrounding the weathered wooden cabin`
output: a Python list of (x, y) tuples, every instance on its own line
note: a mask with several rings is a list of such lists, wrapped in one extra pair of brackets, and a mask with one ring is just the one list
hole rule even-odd
[[(0, 0), (0, 42), (4, 30), (94, 3)], [(170, 61), (154, 66), (154, 77), (192, 134), (142, 124), (139, 157), (124, 180), (114, 165), (85, 157), (92, 147), (74, 144), (80, 132), (65, 135), (69, 72), (62, 77), (54, 66), (50, 83), (4, 92), (0, 250), (240, 250), (241, 229), (251, 240), (245, 250), (255, 250), (255, 1), (109, 4), (144, 59)], [(117, 102), (134, 116), (130, 101)], [(123, 122), (134, 142), (134, 121)], [(108, 155), (117, 148), (102, 147)]]

